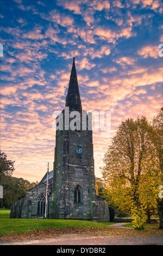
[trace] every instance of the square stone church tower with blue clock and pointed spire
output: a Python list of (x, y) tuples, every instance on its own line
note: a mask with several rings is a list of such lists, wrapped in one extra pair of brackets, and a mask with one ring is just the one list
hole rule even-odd
[[(82, 130), (83, 111), (74, 58), (65, 106), (69, 107), (69, 113), (80, 113), (81, 129), (72, 131), (64, 127), (56, 131), (53, 217), (93, 220), (97, 211), (92, 130), (88, 130), (88, 124)], [(62, 114), (65, 117), (65, 109)], [(87, 116), (85, 111), (83, 114)]]

